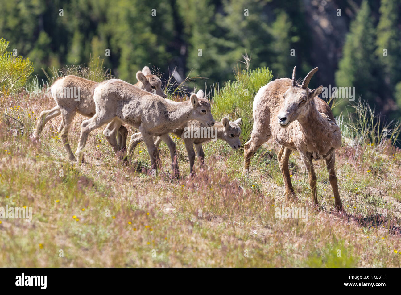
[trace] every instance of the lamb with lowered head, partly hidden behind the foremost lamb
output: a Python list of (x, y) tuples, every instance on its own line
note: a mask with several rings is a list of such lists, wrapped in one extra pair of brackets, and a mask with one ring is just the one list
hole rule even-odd
[[(199, 90), (196, 93), (198, 98), (203, 98), (204, 93), (202, 90)], [(225, 142), (231, 146), (232, 149), (237, 150), (241, 147), (241, 141), (239, 140), (239, 136), (241, 135), (241, 128), (239, 125), (241, 124), (241, 118), (235, 120), (234, 122), (230, 122), (227, 117), (224, 117), (222, 122), (215, 122), (213, 126), (213, 134), (212, 128), (203, 125), (201, 122), (192, 120), (172, 130), (171, 133), (182, 138), (184, 140), (185, 149), (188, 153), (189, 158), (189, 169), (190, 173), (193, 171), (193, 166), (195, 162), (195, 151), (194, 145), (196, 149), (196, 153), (198, 154), (198, 158), (203, 161), (205, 159), (205, 153), (203, 152), (202, 143), (208, 142), (210, 140), (215, 139), (223, 139)], [(198, 131), (198, 132), (197, 132)], [(196, 133), (197, 132), (197, 133)], [(193, 137), (188, 137), (188, 135), (194, 135)], [(197, 135), (196, 135), (197, 134)], [(160, 142), (162, 139), (160, 137), (155, 138), (154, 142), (156, 149), (159, 148)], [(128, 155), (131, 155), (132, 151), (136, 148), (136, 146), (143, 140), (141, 132), (135, 133), (131, 137), (130, 145), (128, 146)]]

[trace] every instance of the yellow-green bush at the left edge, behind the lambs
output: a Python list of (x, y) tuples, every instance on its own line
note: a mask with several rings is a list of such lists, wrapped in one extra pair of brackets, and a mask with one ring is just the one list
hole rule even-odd
[(5, 39), (0, 39), (0, 91), (3, 97), (24, 86), (33, 72), (29, 58), (14, 57), (11, 52), (6, 51), (8, 44)]

